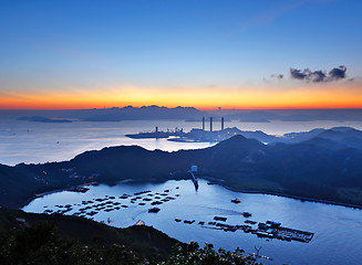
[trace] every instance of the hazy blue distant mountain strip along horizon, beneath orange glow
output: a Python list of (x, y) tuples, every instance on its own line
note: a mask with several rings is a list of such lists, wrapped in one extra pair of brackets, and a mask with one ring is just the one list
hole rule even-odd
[(50, 110), (0, 110), (2, 117), (10, 116), (29, 121), (49, 123), (58, 120), (122, 121), (122, 120), (187, 120), (198, 121), (201, 117), (215, 117), (241, 123), (281, 121), (352, 121), (362, 120), (362, 109), (216, 109), (200, 110), (195, 107), (124, 106), (92, 109)]

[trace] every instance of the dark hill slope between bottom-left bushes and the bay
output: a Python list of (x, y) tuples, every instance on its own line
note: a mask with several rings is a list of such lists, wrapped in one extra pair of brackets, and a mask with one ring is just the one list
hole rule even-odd
[[(75, 241), (83, 246), (102, 248), (103, 246), (124, 245), (141, 256), (156, 261), (166, 259), (173, 246), (179, 243), (177, 240), (170, 239), (168, 235), (146, 225), (116, 229), (84, 218), (25, 213), (19, 210), (0, 208), (0, 231), (3, 231), (4, 235), (7, 235), (8, 231), (12, 231), (12, 235), (19, 231), (31, 235), (37, 230), (28, 230), (28, 227), (38, 227), (39, 223), (48, 223), (53, 229), (52, 231), (56, 232), (58, 237)], [(48, 231), (43, 234), (50, 234), (50, 229), (46, 225), (41, 225), (38, 229)], [(6, 237), (4, 235), (2, 237)], [(33, 239), (35, 239), (34, 242), (44, 242), (46, 239), (54, 240), (55, 237)]]

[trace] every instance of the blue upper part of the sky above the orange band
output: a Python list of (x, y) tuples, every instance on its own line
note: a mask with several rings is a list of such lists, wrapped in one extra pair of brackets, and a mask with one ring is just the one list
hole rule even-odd
[(362, 75), (360, 0), (0, 0), (0, 96)]

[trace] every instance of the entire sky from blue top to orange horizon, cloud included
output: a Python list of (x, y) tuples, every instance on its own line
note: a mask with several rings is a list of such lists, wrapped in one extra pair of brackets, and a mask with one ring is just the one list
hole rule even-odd
[(0, 0), (0, 108), (362, 108), (360, 0)]

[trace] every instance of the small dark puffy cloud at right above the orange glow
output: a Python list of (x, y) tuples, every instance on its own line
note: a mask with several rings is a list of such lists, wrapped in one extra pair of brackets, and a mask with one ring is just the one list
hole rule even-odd
[(304, 68), (303, 71), (297, 68), (290, 68), (290, 77), (292, 80), (304, 80), (308, 82), (331, 82), (331, 81), (339, 81), (345, 78), (347, 67), (341, 65), (337, 68), (332, 68), (328, 74), (325, 72), (318, 70), (318, 71), (310, 71), (309, 68)]

